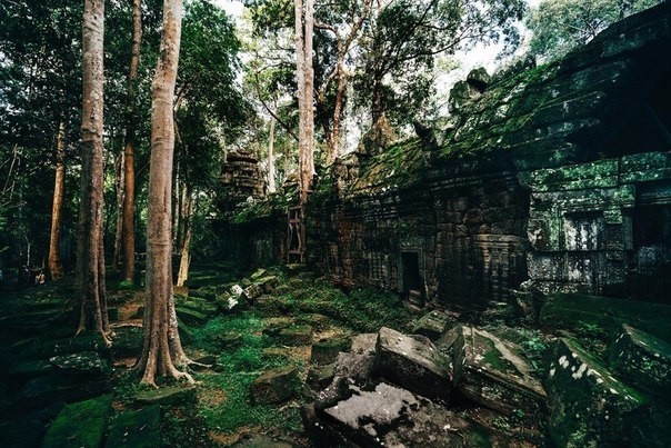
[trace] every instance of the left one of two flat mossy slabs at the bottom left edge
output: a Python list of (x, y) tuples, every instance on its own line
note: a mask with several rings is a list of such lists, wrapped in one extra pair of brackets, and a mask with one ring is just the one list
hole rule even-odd
[(100, 447), (111, 407), (109, 395), (66, 406), (47, 430), (42, 447)]

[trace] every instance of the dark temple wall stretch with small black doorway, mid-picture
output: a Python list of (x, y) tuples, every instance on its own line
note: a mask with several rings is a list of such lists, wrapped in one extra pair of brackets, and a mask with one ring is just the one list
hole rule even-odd
[(394, 193), (327, 201), (313, 210), (311, 261), (336, 282), (418, 291), (420, 302), (505, 301), (527, 279), (529, 193), (493, 168), (434, 170)]

